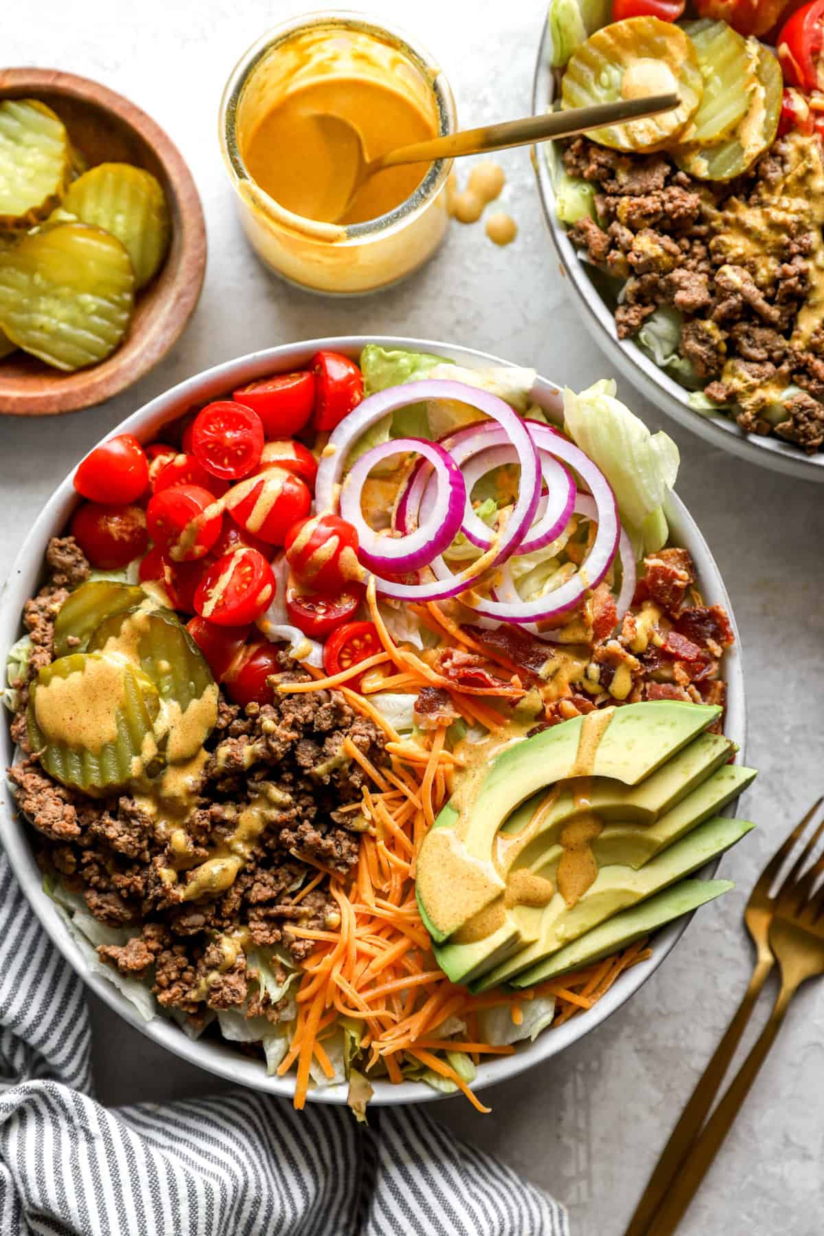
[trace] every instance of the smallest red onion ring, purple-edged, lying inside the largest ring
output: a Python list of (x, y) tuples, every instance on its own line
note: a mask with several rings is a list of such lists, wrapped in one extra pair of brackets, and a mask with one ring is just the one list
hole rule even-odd
[[(416, 451), (432, 467), (432, 502), (426, 519), (401, 536), (377, 533), (363, 518), (361, 492), (372, 468), (393, 455)], [(420, 438), (397, 438), (366, 451), (341, 486), (341, 515), (357, 529), (358, 559), (371, 571), (404, 575), (427, 566), (455, 539), (466, 507), (466, 483), (461, 468), (437, 442)], [(413, 520), (414, 522), (414, 520)]]

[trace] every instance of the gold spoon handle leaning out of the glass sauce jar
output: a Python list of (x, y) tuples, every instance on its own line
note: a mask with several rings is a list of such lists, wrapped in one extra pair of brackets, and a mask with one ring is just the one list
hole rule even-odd
[(594, 108), (574, 108), (570, 111), (551, 111), (545, 116), (524, 116), (502, 125), (484, 125), (467, 129), (447, 137), (434, 137), (413, 146), (400, 146), (376, 159), (369, 172), (399, 163), (431, 163), (436, 158), (460, 158), (462, 154), (483, 154), (487, 151), (507, 150), (510, 146), (529, 146), (550, 137), (571, 137), (588, 129), (616, 125), (623, 120), (655, 116), (660, 111), (677, 108), (677, 94), (655, 94), (644, 99), (623, 99), (619, 103), (599, 103)]

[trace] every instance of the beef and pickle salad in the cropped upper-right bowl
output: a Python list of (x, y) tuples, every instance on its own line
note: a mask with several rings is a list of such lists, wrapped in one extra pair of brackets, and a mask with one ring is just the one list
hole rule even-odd
[(697, 412), (824, 444), (824, 0), (552, 0), (563, 108), (675, 90), (547, 147), (593, 282)]

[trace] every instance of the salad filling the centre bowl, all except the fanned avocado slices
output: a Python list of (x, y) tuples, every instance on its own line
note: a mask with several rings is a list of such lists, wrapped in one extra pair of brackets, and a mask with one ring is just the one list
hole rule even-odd
[(380, 1079), (481, 1107), (481, 1063), (649, 955), (478, 994), (415, 897), (473, 750), (721, 716), (734, 637), (670, 541), (675, 444), (612, 382), (534, 382), (369, 345), (114, 436), (25, 607), (10, 780), (44, 889), (145, 1018), (292, 1073), (298, 1106), (347, 1083), (362, 1116)]

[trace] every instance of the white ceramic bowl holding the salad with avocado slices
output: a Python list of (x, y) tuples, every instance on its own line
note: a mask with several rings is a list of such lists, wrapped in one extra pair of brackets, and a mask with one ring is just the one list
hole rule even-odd
[[(236, 361), (216, 365), (214, 368), (206, 370), (205, 373), (199, 373), (196, 377), (180, 382), (166, 394), (158, 396), (157, 399), (152, 399), (140, 412), (128, 417), (127, 420), (112, 430), (112, 434), (127, 430), (142, 441), (151, 441), (159, 436), (158, 430), (163, 424), (179, 417), (193, 404), (206, 402), (267, 373), (275, 371), (288, 372), (299, 368), (321, 347), (357, 357), (361, 349), (368, 342), (377, 342), (385, 347), (406, 347), (424, 352), (435, 352), (450, 356), (467, 367), (508, 363), (483, 352), (477, 352), (467, 347), (452, 347), (448, 344), (441, 344), (430, 339), (350, 335), (335, 339), (315, 339), (305, 344), (285, 344), (262, 352), (252, 352), (250, 356), (242, 356)], [(593, 378), (595, 377), (597, 375), (593, 375)], [(557, 417), (561, 400), (556, 386), (545, 378), (537, 378), (534, 394), (537, 403), (546, 408), (550, 414)], [(23, 603), (40, 586), (48, 539), (52, 535), (62, 533), (75, 506), (77, 494), (72, 487), (72, 473), (69, 473), (46, 503), (40, 518), (26, 538), (6, 583), (0, 604), (0, 658), (2, 661), (5, 661), (6, 649), (11, 646), (20, 634), (20, 616)], [(735, 629), (735, 619), (730, 609), (729, 597), (724, 590), (724, 583), (707, 548), (707, 543), (698, 531), (692, 517), (683, 503), (676, 497), (670, 498), (666, 513), (675, 540), (693, 555), (703, 596), (709, 604), (720, 604), (726, 608)], [(744, 679), (738, 646), (738, 630), (736, 644), (725, 658), (724, 674), (729, 682), (726, 733), (739, 744), (739, 759), (742, 759), (745, 739)], [(0, 756), (2, 765), (6, 766), (11, 763), (12, 758), (12, 747), (6, 724), (0, 726)], [(1, 816), (1, 828), (2, 844), (35, 912), (54, 941), (54, 944), (101, 1000), (125, 1017), (130, 1025), (142, 1031), (142, 1033), (147, 1035), (156, 1043), (159, 1043), (161, 1047), (168, 1048), (168, 1051), (177, 1053), (191, 1064), (198, 1064), (200, 1068), (216, 1073), (219, 1077), (229, 1078), (232, 1082), (252, 1086), (257, 1090), (266, 1090), (269, 1094), (284, 1098), (292, 1096), (294, 1089), (293, 1078), (267, 1077), (262, 1063), (242, 1056), (232, 1046), (220, 1042), (193, 1042), (173, 1021), (166, 1017), (157, 1016), (149, 1022), (143, 1021), (135, 1006), (111, 983), (89, 970), (85, 959), (69, 936), (64, 921), (59, 917), (54, 904), (43, 892), (42, 876), (35, 861), (27, 828), (16, 816), (14, 800), (7, 786), (5, 787), (5, 810)], [(717, 866), (718, 863), (712, 864), (707, 869), (707, 874), (714, 871)], [(514, 1056), (502, 1057), (488, 1064), (482, 1064), (478, 1069), (474, 1089), (479, 1090), (497, 1082), (504, 1082), (507, 1078), (515, 1077), (515, 1074), (521, 1073), (532, 1064), (537, 1064), (540, 1060), (549, 1059), (549, 1057), (568, 1047), (570, 1043), (574, 1043), (587, 1035), (619, 1009), (625, 1000), (629, 1000), (634, 991), (637, 991), (652, 971), (661, 965), (667, 953), (670, 953), (679, 939), (686, 926), (687, 920), (679, 918), (661, 931), (655, 938), (655, 947), (650, 960), (635, 965), (626, 974), (623, 974), (610, 991), (591, 1011), (573, 1017), (558, 1030), (545, 1031), (534, 1043), (520, 1044)], [(345, 1103), (346, 1088), (338, 1085), (310, 1091), (309, 1096), (319, 1103)], [(406, 1082), (400, 1085), (392, 1085), (388, 1082), (378, 1082), (374, 1086), (373, 1103), (426, 1103), (437, 1098), (442, 1096), (420, 1083)]]

